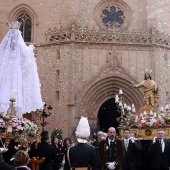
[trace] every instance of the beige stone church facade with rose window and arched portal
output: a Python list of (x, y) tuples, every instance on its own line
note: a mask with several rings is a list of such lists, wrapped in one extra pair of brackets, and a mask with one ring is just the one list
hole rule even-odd
[(43, 101), (53, 107), (46, 130), (61, 128), (71, 136), (81, 116), (97, 127), (101, 105), (119, 89), (124, 102), (134, 103), (139, 111), (143, 94), (133, 86), (144, 79), (146, 69), (160, 87), (159, 105), (169, 102), (170, 2), (0, 0), (0, 4), (0, 40), (9, 29), (7, 21), (29, 19), (30, 32), (24, 35), (36, 46)]

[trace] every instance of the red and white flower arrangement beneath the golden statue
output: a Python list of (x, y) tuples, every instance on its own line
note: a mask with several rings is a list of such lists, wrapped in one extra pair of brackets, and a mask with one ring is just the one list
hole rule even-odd
[(138, 128), (166, 128), (167, 126), (165, 115), (163, 113), (158, 115), (152, 111), (150, 114), (147, 114), (146, 111), (140, 113), (131, 123), (131, 127)]

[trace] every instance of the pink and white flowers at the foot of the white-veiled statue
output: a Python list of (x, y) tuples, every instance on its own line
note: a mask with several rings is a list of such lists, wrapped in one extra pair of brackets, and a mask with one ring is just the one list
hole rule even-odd
[[(9, 118), (0, 113), (0, 132), (5, 132), (7, 129)], [(12, 138), (18, 139), (22, 134), (26, 134), (28, 137), (35, 137), (38, 131), (36, 124), (30, 120), (15, 116), (12, 118)]]

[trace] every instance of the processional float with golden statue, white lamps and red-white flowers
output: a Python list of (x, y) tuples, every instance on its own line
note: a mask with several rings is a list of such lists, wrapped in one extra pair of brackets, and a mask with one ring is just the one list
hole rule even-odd
[(141, 106), (138, 112), (136, 112), (134, 104), (130, 107), (123, 103), (122, 90), (115, 97), (121, 115), (117, 118), (120, 138), (123, 138), (124, 129), (130, 129), (140, 140), (152, 140), (158, 129), (163, 129), (165, 137), (169, 138), (170, 105), (165, 105), (165, 111), (163, 107), (158, 105), (159, 88), (148, 71), (145, 72), (144, 80), (134, 86), (134, 90), (141, 87), (144, 88), (145, 105)]

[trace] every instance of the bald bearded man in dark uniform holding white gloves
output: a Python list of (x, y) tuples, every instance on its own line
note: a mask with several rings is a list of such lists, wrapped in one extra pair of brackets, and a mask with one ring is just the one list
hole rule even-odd
[(116, 138), (114, 127), (108, 129), (108, 137), (99, 143), (98, 160), (100, 169), (122, 169), (124, 159), (124, 149), (122, 141)]

